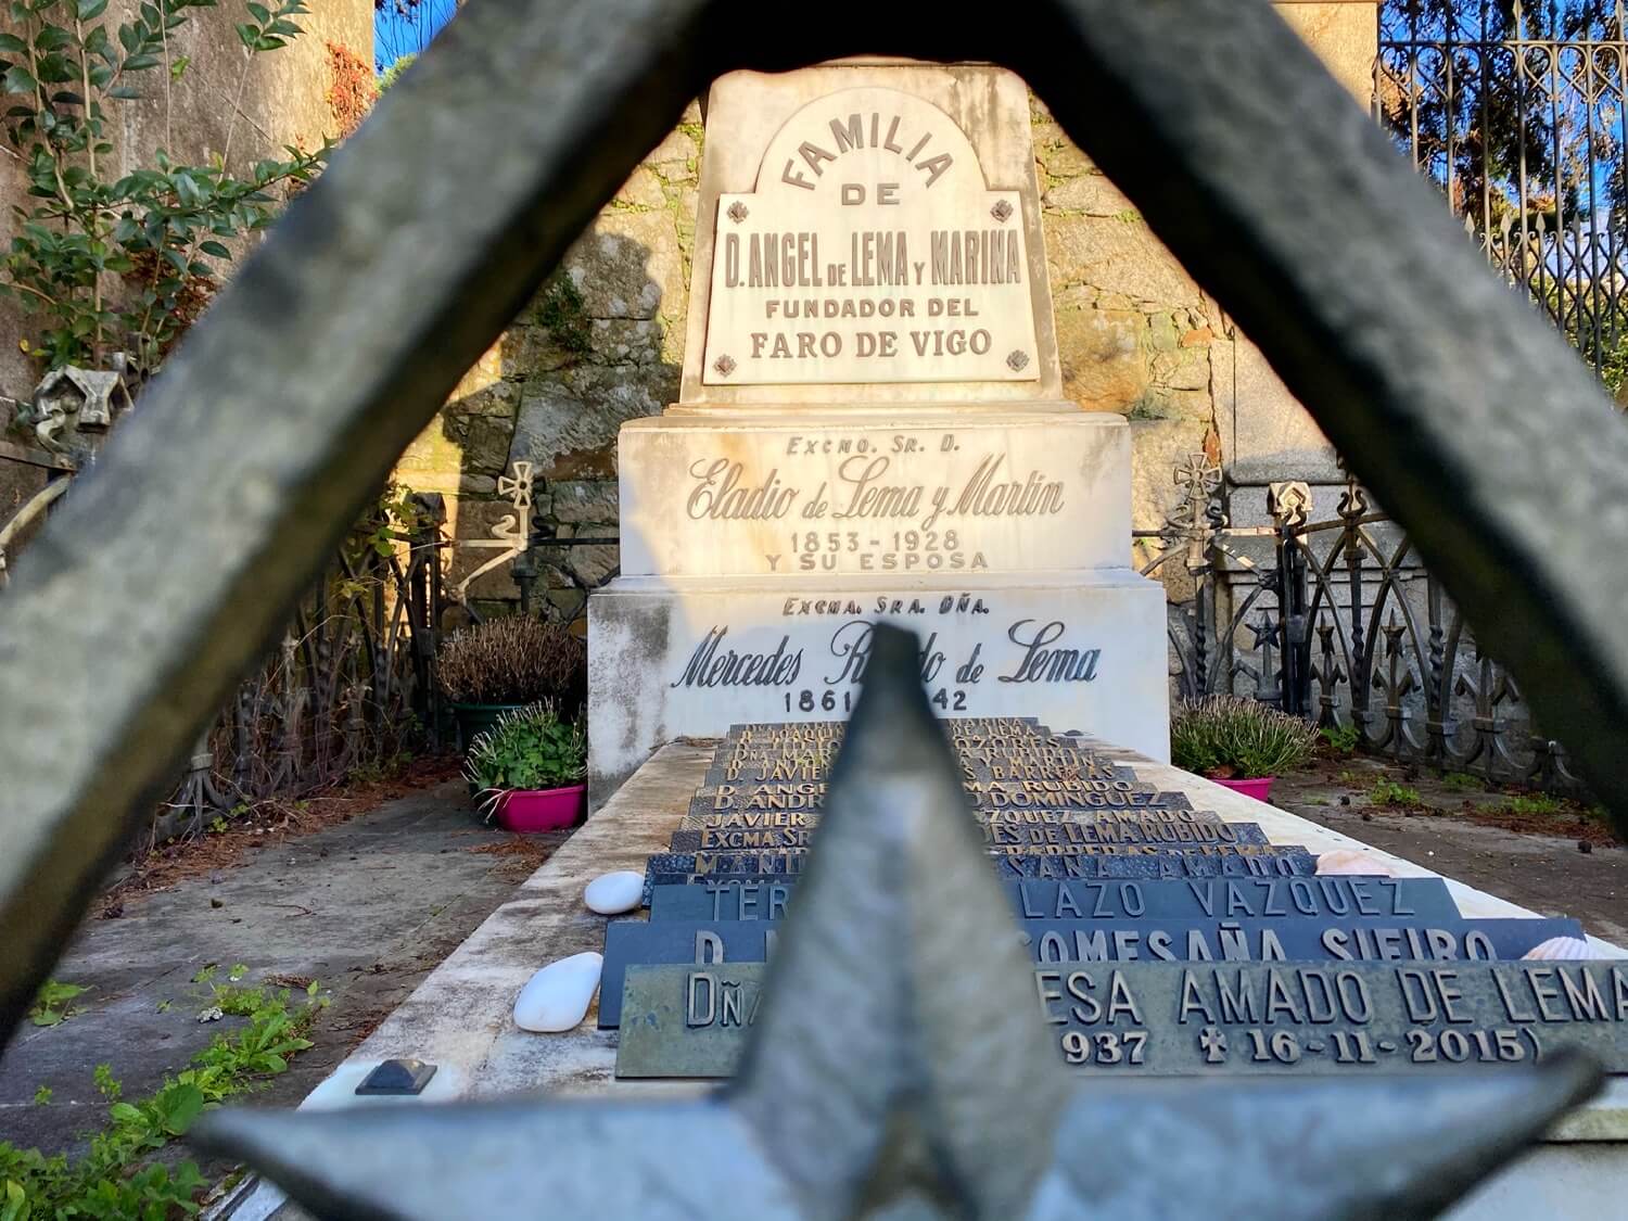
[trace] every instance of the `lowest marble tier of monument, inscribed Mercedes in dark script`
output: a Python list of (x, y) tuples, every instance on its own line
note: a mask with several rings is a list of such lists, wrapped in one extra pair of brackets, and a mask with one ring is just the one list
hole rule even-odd
[(624, 576), (594, 594), (596, 622), (643, 651), (637, 664), (607, 650), (589, 654), (589, 716), (606, 726), (589, 778), (632, 772), (672, 726), (705, 737), (739, 721), (847, 715), (877, 624), (918, 633), (921, 679), (946, 715), (1066, 715), (1166, 759), (1162, 599), (1130, 568), (1021, 580), (995, 568), (842, 580)]

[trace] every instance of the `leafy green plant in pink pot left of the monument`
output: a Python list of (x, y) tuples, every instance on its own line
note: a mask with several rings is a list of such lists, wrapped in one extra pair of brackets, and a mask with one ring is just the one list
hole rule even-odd
[(469, 747), (464, 775), (482, 814), (505, 830), (560, 830), (588, 803), (588, 737), (547, 700), (498, 716)]

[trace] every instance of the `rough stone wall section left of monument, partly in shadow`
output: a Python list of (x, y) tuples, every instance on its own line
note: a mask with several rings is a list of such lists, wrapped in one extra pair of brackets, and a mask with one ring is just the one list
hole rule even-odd
[[(488, 537), (513, 513), (498, 479), (514, 462), (532, 464), (534, 511), (557, 537), (615, 536), (617, 428), (679, 397), (700, 153), (692, 106), (402, 454), (397, 480), (448, 498), (454, 539)], [(449, 580), (490, 557), (454, 552)], [(558, 547), (537, 560), (539, 601), (570, 619), (581, 589), (615, 568), (617, 549)], [(469, 586), (477, 609), (518, 597), (508, 565)]]

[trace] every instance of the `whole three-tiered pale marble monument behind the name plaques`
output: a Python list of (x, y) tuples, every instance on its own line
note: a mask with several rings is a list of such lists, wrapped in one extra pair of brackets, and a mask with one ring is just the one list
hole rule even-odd
[(707, 116), (679, 402), (622, 427), (589, 601), (593, 807), (663, 742), (845, 716), (879, 620), (943, 715), (1167, 759), (1130, 428), (1063, 399), (1022, 81), (733, 73)]

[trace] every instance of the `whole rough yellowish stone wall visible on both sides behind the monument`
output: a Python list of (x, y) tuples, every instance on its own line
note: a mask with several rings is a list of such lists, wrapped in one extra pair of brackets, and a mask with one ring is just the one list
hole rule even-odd
[[(1374, 3), (1278, 8), (1366, 106)], [(1315, 482), (1332, 472), (1311, 417), (1216, 301), (1039, 101), (1032, 124), (1065, 396), (1130, 418), (1135, 527), (1164, 524), (1172, 472), (1192, 453), (1226, 462), (1229, 474), (1237, 467), (1262, 485), (1262, 501), (1268, 479)], [(490, 537), (513, 513), (498, 479), (518, 461), (532, 464), (534, 511), (555, 537), (614, 537), (617, 428), (677, 399), (700, 153), (702, 116), (692, 106), (402, 456), (397, 479), (446, 495), (456, 539)], [(1278, 474), (1289, 469), (1298, 474)], [(453, 581), (493, 554), (457, 550)], [(609, 545), (547, 547), (534, 560), (537, 599), (570, 619), (581, 588), (610, 573), (617, 555)], [(1167, 568), (1179, 597), (1185, 573)], [(484, 612), (514, 602), (511, 568), (472, 581), (469, 597)]]

